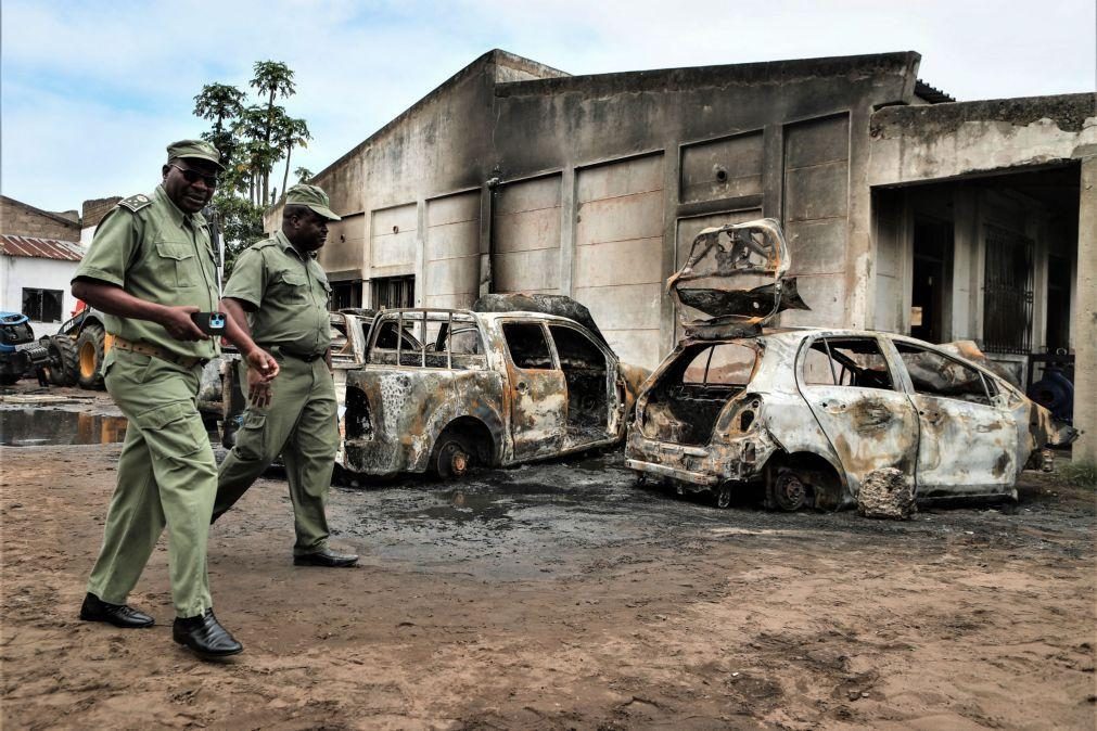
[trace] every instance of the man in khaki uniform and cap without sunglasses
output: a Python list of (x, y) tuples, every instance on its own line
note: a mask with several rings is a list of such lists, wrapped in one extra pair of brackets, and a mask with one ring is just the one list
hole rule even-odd
[(279, 456), (285, 462), (293, 502), (296, 566), (350, 567), (358, 556), (328, 547), (324, 503), (339, 446), (336, 390), (331, 378), (331, 287), (316, 262), (328, 221), (339, 220), (315, 185), (286, 192), (282, 230), (245, 250), (233, 265), (222, 307), (257, 343), (278, 358), (281, 373), (269, 384), (247, 367), (240, 382), (252, 398), (236, 445), (217, 475), (216, 521)]

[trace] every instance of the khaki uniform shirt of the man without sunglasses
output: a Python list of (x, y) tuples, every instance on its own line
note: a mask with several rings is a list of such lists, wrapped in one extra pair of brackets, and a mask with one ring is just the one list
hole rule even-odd
[(330, 294), (316, 258), (301, 254), (282, 231), (245, 249), (225, 285), (225, 297), (256, 308), (248, 313), (252, 340), (302, 357), (323, 355), (331, 345)]

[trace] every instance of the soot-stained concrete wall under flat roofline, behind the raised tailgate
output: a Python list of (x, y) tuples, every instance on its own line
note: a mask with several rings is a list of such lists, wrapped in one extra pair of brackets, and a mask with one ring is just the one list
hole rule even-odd
[[(867, 176), (872, 107), (909, 101), (917, 64), (890, 54), (500, 84), (496, 168), (505, 185), (561, 175), (559, 292), (591, 308), (626, 359), (654, 366), (672, 346), (661, 283), (699, 219), (778, 218), (813, 308), (781, 321), (860, 327), (874, 304), (871, 206), (851, 181)], [(596, 176), (603, 197), (587, 192)]]

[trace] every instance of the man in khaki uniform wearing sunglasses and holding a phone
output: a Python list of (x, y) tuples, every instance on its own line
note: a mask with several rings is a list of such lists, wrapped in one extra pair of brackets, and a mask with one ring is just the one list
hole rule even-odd
[[(210, 596), (206, 538), (217, 467), (196, 397), (202, 366), (218, 354), (218, 343), (191, 318), (218, 309), (214, 254), (199, 212), (223, 169), (208, 142), (170, 145), (162, 183), (106, 215), (72, 279), (73, 296), (106, 313), (114, 345), (103, 362), (104, 380), (128, 419), (80, 618), (124, 628), (154, 624), (126, 597), (167, 525), (172, 638), (204, 658), (244, 649), (217, 621)], [(227, 324), (226, 336), (247, 354), (258, 380), (276, 376), (278, 363)]]

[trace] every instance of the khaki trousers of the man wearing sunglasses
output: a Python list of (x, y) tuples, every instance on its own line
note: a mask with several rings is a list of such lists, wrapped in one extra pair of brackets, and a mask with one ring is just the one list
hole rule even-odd
[(213, 606), (206, 538), (217, 491), (213, 448), (196, 404), (202, 367), (112, 349), (103, 372), (129, 423), (88, 591), (125, 604), (167, 525), (176, 614), (201, 615)]

